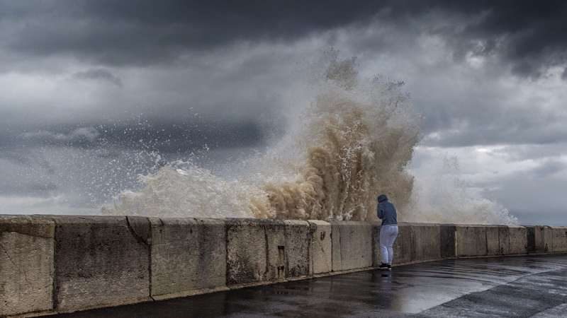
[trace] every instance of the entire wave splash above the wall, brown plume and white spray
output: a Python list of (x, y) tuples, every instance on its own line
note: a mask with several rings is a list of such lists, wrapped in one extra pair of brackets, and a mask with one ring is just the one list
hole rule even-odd
[(285, 136), (264, 151), (215, 171), (194, 158), (167, 163), (103, 213), (376, 220), (376, 196), (385, 193), (401, 221), (517, 222), (443, 169), (417, 180), (410, 174), (420, 117), (403, 83), (361, 78), (356, 60), (334, 51), (323, 62), (313, 100), (292, 105)]

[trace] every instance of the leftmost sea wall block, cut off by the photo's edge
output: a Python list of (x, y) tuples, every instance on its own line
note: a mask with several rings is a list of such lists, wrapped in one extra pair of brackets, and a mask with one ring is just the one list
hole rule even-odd
[(51, 310), (55, 223), (0, 216), (0, 316)]

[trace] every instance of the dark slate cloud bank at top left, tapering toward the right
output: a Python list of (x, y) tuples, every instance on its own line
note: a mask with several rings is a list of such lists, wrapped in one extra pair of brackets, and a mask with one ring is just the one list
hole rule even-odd
[(50, 1), (25, 6), (3, 3), (4, 18), (16, 30), (5, 39), (7, 47), (111, 65), (171, 61), (188, 50), (238, 40), (293, 40), (364, 20), (380, 8), (344, 1)]

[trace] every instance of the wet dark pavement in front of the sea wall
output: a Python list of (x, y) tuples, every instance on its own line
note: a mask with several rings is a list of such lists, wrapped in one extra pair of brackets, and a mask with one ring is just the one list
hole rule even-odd
[(567, 317), (567, 256), (432, 261), (57, 317)]

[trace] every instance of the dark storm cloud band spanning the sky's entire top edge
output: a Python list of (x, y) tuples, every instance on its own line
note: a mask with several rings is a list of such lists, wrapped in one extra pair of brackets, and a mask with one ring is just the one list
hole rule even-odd
[[(0, 9), (11, 30), (1, 35), (5, 48), (107, 65), (174, 61), (237, 41), (290, 41), (372, 19), (403, 28), (416, 18), (434, 19), (437, 26), (415, 32), (447, 37), (457, 58), (496, 54), (523, 76), (567, 59), (565, 1), (2, 1)], [(458, 27), (443, 23), (455, 17)]]

